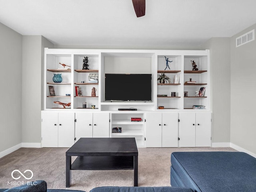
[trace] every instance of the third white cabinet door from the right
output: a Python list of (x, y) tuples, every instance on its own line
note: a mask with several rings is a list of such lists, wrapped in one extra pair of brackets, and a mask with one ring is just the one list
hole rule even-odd
[(178, 147), (178, 113), (162, 114), (162, 147)]

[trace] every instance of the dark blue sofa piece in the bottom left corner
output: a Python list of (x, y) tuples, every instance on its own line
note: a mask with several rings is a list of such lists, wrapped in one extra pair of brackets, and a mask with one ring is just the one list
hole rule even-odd
[(10, 188), (5, 192), (47, 192), (47, 184), (44, 180), (28, 183), (18, 187)]

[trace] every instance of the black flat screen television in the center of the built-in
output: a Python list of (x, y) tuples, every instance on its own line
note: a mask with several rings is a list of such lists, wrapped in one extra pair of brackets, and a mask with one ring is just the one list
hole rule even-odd
[(105, 74), (105, 100), (151, 101), (152, 74)]

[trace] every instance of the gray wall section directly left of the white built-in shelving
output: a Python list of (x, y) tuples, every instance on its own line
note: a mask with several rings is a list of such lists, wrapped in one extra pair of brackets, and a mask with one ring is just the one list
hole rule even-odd
[(44, 46), (42, 36), (22, 37), (22, 143), (41, 142)]

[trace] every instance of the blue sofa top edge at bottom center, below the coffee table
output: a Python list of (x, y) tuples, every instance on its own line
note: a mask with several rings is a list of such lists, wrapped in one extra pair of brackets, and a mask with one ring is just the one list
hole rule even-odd
[(90, 192), (193, 192), (184, 187), (96, 187)]

